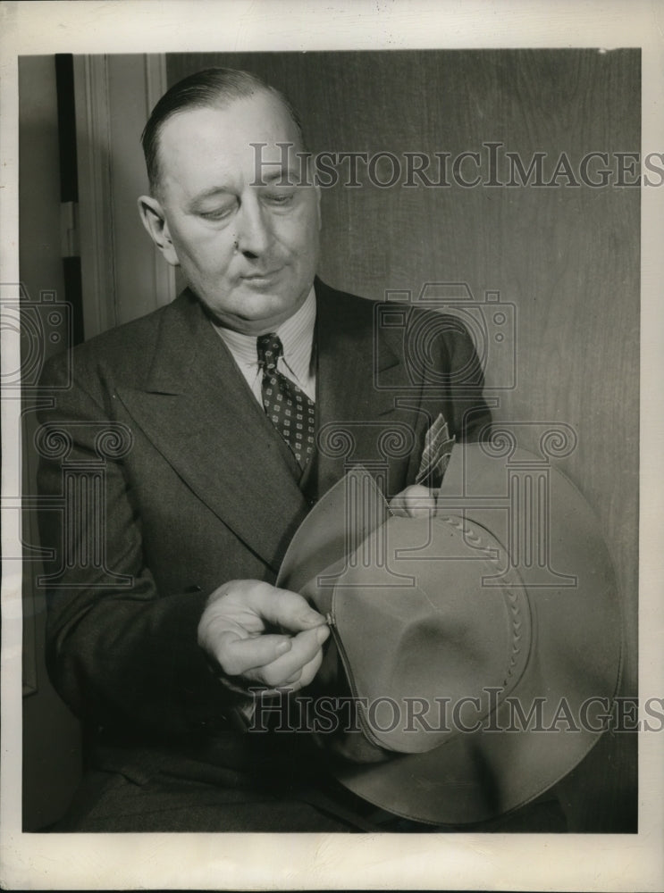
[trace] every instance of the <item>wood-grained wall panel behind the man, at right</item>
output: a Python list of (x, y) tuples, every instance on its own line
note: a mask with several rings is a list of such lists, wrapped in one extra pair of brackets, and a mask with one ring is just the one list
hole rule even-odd
[[(499, 387), (503, 371), (489, 355), (487, 394), (500, 420), (565, 422), (576, 431), (578, 445), (559, 467), (593, 505), (615, 558), (625, 691), (634, 693), (640, 204), (637, 188), (615, 185), (615, 153), (640, 149), (639, 52), (174, 54), (168, 81), (213, 64), (255, 71), (284, 90), (313, 152), (454, 158), (498, 142), (501, 154), (525, 163), (545, 153), (545, 181), (561, 153), (577, 178), (584, 154), (609, 153), (614, 185), (606, 188), (379, 188), (365, 176), (362, 188), (326, 189), (321, 274), (373, 298), (449, 281), (466, 282), (477, 299), (493, 290), (516, 305), (517, 387)], [(472, 163), (463, 171), (470, 179)], [(488, 179), (485, 157), (480, 173)], [(497, 173), (509, 179), (504, 166)], [(627, 169), (623, 179), (634, 175)], [(574, 803), (570, 794), (576, 827), (629, 827), (630, 747), (607, 739), (582, 764)]]

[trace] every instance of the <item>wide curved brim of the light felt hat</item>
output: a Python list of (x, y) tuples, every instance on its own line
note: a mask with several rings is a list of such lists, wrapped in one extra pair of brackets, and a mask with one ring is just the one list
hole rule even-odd
[[(521, 469), (530, 463), (535, 472), (542, 468), (524, 450), (509, 461)], [(458, 444), (443, 480), (439, 511), (461, 513), (467, 522), (491, 530), (508, 549), (513, 528), (504, 511), (506, 469), (505, 458), (482, 445)], [(483, 822), (551, 788), (600, 738), (601, 717), (615, 697), (621, 671), (616, 574), (584, 497), (554, 467), (547, 466), (547, 475), (547, 560), (546, 566), (531, 562), (523, 574), (532, 638), (516, 688), (479, 729), (459, 730), (426, 753), (394, 755), (374, 764), (331, 755), (332, 773), (359, 797), (418, 822)], [(279, 585), (313, 591), (323, 608), (333, 592), (330, 568), (349, 546), (347, 494), (357, 487), (364, 495), (356, 521), (363, 535), (389, 518), (371, 476), (354, 469), (307, 516), (282, 564)], [(407, 565), (408, 558), (403, 560)], [(483, 585), (486, 580), (478, 580)], [(531, 721), (523, 722), (533, 710)]]

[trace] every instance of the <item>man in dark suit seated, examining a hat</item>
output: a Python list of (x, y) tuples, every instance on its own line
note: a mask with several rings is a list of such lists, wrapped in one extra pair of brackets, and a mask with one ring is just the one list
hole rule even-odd
[[(188, 288), (77, 348), (73, 387), (43, 415), (45, 442), (67, 448), (42, 449), (42, 492), (80, 496), (42, 518), (48, 661), (92, 730), (62, 830), (375, 827), (325, 780), (309, 736), (246, 732), (256, 697), (315, 682), (329, 635), (273, 584), (349, 463), (378, 469), (396, 510), (433, 505), (415, 484), (426, 431), (442, 414), (450, 436), (473, 439), (489, 421), (474, 348), (449, 321), (429, 345), (439, 388), (424, 400), (427, 369), (407, 355), (422, 314), (382, 330), (371, 302), (315, 279), (320, 193), (301, 176), (298, 119), (254, 76), (176, 84), (143, 145), (139, 212)], [(45, 387), (65, 370), (56, 358)], [(416, 398), (397, 401), (406, 385)], [(409, 446), (390, 453), (381, 435), (395, 430)]]

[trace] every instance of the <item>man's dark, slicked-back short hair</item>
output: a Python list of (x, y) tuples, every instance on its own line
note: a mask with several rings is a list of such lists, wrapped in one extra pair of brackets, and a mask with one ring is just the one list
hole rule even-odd
[(299, 114), (281, 90), (270, 87), (250, 71), (232, 68), (206, 68), (179, 80), (164, 93), (155, 105), (143, 129), (140, 141), (146, 159), (150, 190), (159, 187), (159, 137), (164, 123), (173, 115), (192, 108), (224, 108), (238, 99), (249, 99), (256, 93), (272, 94), (281, 103), (298, 129), (302, 148), (304, 136)]

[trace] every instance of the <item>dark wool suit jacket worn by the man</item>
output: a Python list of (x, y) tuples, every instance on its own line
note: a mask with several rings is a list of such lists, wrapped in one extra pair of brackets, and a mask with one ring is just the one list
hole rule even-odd
[[(77, 347), (73, 387), (53, 391), (55, 408), (42, 415), (46, 434), (62, 430), (71, 444), (65, 455), (42, 448), (42, 494), (92, 481), (73, 508), (42, 513), (43, 545), (55, 554), (47, 660), (64, 700), (111, 738), (177, 751), (228, 730), (231, 696), (197, 645), (208, 595), (226, 580), (273, 582), (298, 524), (345, 463), (365, 463), (391, 496), (414, 482), (439, 412), (458, 438), (489, 419), (458, 322), (441, 330), (435, 317), (439, 337), (424, 345), (423, 365), (408, 336), (422, 312), (407, 320), (395, 305), (400, 315), (376, 328), (373, 302), (315, 288), (320, 445), (302, 487), (189, 291)], [(65, 372), (56, 357), (45, 388), (62, 386)], [(109, 424), (125, 442), (106, 439), (95, 464)]]

